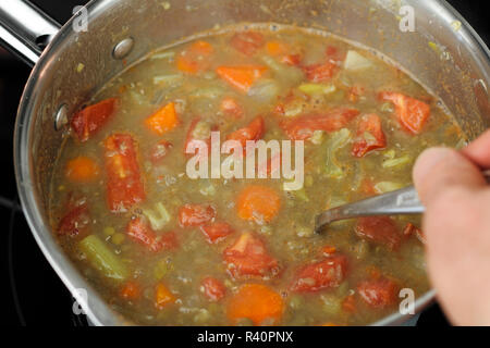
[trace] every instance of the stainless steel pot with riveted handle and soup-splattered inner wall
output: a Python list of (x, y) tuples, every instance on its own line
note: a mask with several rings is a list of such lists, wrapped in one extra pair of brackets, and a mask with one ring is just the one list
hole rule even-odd
[[(413, 33), (400, 29), (402, 5), (414, 10)], [(19, 108), (14, 140), (25, 216), (66, 287), (73, 294), (81, 288), (87, 290), (84, 307), (96, 325), (131, 323), (91, 289), (52, 237), (49, 182), (70, 115), (108, 79), (150, 50), (216, 25), (241, 22), (327, 29), (399, 62), (441, 98), (469, 138), (490, 125), (490, 52), (445, 1), (95, 0), (86, 9), (88, 30), (81, 32), (81, 17), (60, 28), (25, 0), (2, 0), (0, 39), (34, 65)], [(416, 311), (433, 298), (433, 291), (421, 296)], [(407, 319), (396, 313), (376, 324), (401, 324)]]

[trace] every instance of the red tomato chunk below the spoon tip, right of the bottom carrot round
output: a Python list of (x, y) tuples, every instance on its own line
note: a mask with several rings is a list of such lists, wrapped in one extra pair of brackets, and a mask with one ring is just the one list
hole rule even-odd
[(344, 256), (326, 258), (299, 269), (291, 285), (291, 290), (315, 293), (338, 287), (344, 281), (346, 271), (347, 259)]

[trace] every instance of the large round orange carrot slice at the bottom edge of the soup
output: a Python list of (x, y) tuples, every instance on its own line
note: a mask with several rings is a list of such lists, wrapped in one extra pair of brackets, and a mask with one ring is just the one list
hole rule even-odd
[[(284, 300), (272, 288), (259, 284), (243, 285), (228, 303), (228, 318), (234, 324), (249, 319), (254, 325), (277, 324), (284, 311)], [(271, 322), (269, 322), (271, 321)]]

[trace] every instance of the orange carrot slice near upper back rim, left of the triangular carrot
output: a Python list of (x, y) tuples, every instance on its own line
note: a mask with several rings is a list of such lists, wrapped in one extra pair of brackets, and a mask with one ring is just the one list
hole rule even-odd
[(213, 52), (211, 44), (207, 41), (196, 41), (176, 59), (176, 66), (180, 71), (188, 74), (197, 74), (209, 69), (210, 55)]

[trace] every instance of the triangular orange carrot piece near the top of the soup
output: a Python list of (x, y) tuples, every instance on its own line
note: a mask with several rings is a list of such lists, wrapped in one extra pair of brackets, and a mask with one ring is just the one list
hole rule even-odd
[(238, 65), (219, 66), (216, 73), (232, 87), (246, 94), (266, 71), (267, 67), (260, 65)]

